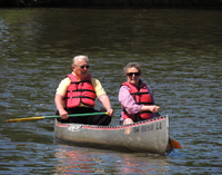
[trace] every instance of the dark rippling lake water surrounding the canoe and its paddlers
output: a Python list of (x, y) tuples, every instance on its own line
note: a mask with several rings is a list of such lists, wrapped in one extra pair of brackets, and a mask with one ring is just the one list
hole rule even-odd
[[(0, 9), (0, 174), (222, 174), (222, 11), (189, 9)], [(54, 93), (84, 54), (119, 124), (122, 68), (139, 61), (170, 136), (168, 156), (63, 144)], [(97, 109), (102, 108), (97, 101)]]

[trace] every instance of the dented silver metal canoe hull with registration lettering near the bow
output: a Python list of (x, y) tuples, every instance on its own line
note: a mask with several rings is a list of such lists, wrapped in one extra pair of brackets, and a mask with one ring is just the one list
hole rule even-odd
[(169, 143), (169, 118), (123, 126), (64, 124), (56, 119), (54, 136), (77, 146), (165, 155)]

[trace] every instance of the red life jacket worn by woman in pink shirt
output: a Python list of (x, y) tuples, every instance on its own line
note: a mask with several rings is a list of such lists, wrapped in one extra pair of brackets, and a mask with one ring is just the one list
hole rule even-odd
[[(133, 97), (135, 100), (135, 104), (138, 105), (153, 105), (153, 100), (149, 94), (148, 87), (144, 82), (142, 82), (139, 87), (134, 87), (131, 85), (129, 81), (123, 82), (122, 86), (128, 86), (130, 88), (130, 95)], [(123, 118), (131, 118), (133, 121), (139, 121), (139, 120), (145, 120), (152, 118), (152, 111), (142, 111), (138, 114), (130, 115), (127, 113), (125, 109), (123, 109)]]

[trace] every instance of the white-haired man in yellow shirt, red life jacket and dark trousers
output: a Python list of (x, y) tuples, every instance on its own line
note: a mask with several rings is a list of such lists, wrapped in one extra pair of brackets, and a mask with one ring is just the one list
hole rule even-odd
[[(54, 101), (58, 109), (57, 115), (61, 116), (58, 119), (62, 123), (109, 125), (111, 121), (113, 109), (109, 97), (100, 81), (88, 74), (89, 67), (87, 56), (75, 56), (72, 59), (72, 74), (67, 75), (57, 89)], [(108, 115), (69, 117), (70, 114), (95, 113), (94, 100), (97, 97)]]

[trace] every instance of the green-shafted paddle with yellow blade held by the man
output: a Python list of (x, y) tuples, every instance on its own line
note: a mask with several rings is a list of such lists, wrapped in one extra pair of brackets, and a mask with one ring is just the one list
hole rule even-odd
[[(102, 113), (72, 114), (72, 115), (69, 115), (69, 117), (82, 117), (82, 116), (94, 116), (94, 115), (108, 115), (108, 113), (107, 111), (102, 111)], [(58, 117), (60, 117), (60, 116), (39, 116), (39, 117), (14, 118), (14, 119), (4, 120), (4, 123), (40, 120), (40, 119), (58, 118)]]

